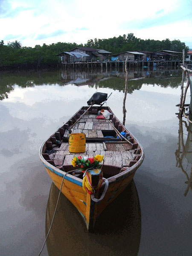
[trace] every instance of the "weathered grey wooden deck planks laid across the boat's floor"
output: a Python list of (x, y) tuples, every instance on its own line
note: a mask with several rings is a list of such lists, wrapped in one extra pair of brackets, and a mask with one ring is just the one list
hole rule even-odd
[[(105, 156), (105, 164), (106, 165), (114, 165), (114, 166), (130, 166), (133, 163), (135, 163), (135, 160), (139, 160), (139, 157), (141, 155), (141, 150), (139, 147), (137, 147), (136, 141), (133, 140), (134, 144), (131, 145), (128, 142), (125, 141), (113, 141), (113, 142), (103, 142), (105, 140), (102, 131), (115, 131), (119, 130), (122, 131), (124, 128), (122, 127), (121, 123), (116, 119), (110, 120), (106, 119), (96, 119), (96, 114), (93, 113), (86, 113), (83, 118), (79, 119), (79, 121), (73, 126), (73, 123), (76, 121), (78, 116), (74, 116), (70, 122), (68, 127), (73, 126), (72, 133), (84, 133), (87, 141), (88, 139), (90, 142), (86, 142), (86, 151), (84, 153), (70, 153), (68, 142), (66, 137), (69, 134), (69, 131), (66, 129), (64, 131), (58, 134), (55, 133), (56, 138), (54, 137), (52, 139), (52, 142), (54, 143), (55, 140), (58, 140), (58, 135), (60, 134), (60, 137), (62, 137), (62, 134), (64, 133), (64, 143), (61, 144), (61, 147), (57, 148), (57, 151), (55, 150), (55, 153), (53, 155), (50, 155), (49, 159), (54, 160), (55, 166), (59, 165), (71, 165), (71, 160), (73, 159), (74, 155), (76, 156), (88, 156), (93, 157), (96, 154), (102, 154)], [(125, 130), (125, 132), (127, 132)], [(128, 134), (129, 135), (129, 134)], [(98, 142), (96, 142), (98, 140)], [(99, 142), (99, 140), (101, 140)], [(106, 138), (106, 140), (109, 140)], [(51, 143), (50, 142), (50, 145)], [(136, 148), (136, 149), (134, 149)]]

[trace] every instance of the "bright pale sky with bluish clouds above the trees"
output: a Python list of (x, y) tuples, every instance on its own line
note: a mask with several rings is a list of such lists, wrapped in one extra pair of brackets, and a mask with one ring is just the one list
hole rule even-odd
[(22, 46), (113, 38), (180, 40), (192, 48), (192, 0), (0, 0), (0, 41)]

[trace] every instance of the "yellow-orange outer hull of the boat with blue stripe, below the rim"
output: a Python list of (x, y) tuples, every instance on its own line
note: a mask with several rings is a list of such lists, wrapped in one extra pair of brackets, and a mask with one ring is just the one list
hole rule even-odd
[[(60, 189), (63, 175), (59, 172), (56, 173), (54, 169), (48, 166), (45, 166), (45, 169), (55, 186)], [(105, 207), (107, 207), (108, 204), (110, 204), (111, 201), (113, 201), (125, 189), (125, 187), (128, 186), (133, 179), (135, 172), (136, 169), (131, 173), (131, 175), (127, 175), (126, 177), (123, 176), (123, 178), (116, 180), (115, 182), (110, 182), (105, 197), (99, 202), (94, 202), (91, 199), (91, 196), (87, 192), (84, 192), (82, 188), (82, 181), (80, 179), (73, 179), (72, 175), (65, 176), (61, 192), (78, 209), (84, 219), (87, 230), (90, 231), (93, 229), (96, 219)], [(72, 178), (70, 176), (72, 176)]]

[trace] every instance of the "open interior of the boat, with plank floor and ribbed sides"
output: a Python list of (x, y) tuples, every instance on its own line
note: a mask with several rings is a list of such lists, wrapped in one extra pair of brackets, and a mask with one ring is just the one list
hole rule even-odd
[[(74, 156), (93, 157), (104, 155), (102, 166), (103, 176), (112, 177), (136, 164), (142, 156), (142, 148), (135, 138), (113, 115), (109, 107), (82, 107), (72, 118), (58, 129), (44, 143), (41, 154), (52, 166), (64, 172), (75, 170), (71, 165)], [(102, 109), (110, 112), (109, 119), (97, 119), (98, 111)], [(87, 111), (85, 113), (85, 111)], [(82, 116), (81, 119), (79, 119)], [(79, 121), (77, 122), (77, 120)], [(84, 133), (86, 148), (83, 153), (70, 153), (68, 134)], [(120, 134), (124, 132), (124, 137)], [(82, 178), (82, 174), (73, 175)]]

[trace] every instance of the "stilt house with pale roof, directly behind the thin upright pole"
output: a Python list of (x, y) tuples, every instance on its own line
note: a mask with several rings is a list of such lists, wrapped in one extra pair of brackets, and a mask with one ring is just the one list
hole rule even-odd
[(120, 52), (111, 55), (112, 61), (126, 61), (128, 56), (128, 61), (142, 61), (146, 59), (146, 55), (143, 52)]

